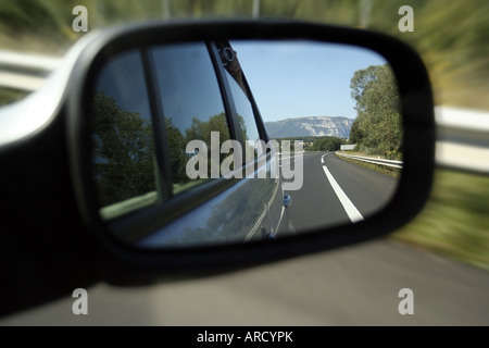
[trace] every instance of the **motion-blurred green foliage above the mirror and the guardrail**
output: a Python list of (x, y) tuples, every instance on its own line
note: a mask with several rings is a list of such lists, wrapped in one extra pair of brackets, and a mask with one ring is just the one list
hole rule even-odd
[[(364, 27), (414, 47), (428, 66), (437, 103), (489, 109), (487, 0), (259, 0), (260, 17)], [(174, 17), (251, 17), (253, 0), (20, 0), (0, 2), (0, 47), (64, 52), (83, 33), (72, 29), (75, 5), (89, 29)], [(399, 8), (414, 10), (414, 32), (401, 33)]]

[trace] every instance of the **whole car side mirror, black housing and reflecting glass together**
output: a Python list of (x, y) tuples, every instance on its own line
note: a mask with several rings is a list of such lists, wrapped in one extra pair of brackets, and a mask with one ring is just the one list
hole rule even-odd
[(100, 35), (76, 66), (72, 175), (109, 282), (364, 241), (405, 224), (428, 197), (428, 76), (384, 35), (149, 24)]

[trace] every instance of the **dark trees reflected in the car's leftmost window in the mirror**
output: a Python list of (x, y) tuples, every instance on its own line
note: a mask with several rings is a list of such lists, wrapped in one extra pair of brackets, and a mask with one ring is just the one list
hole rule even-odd
[(92, 104), (93, 174), (106, 207), (155, 190), (152, 126), (102, 92)]

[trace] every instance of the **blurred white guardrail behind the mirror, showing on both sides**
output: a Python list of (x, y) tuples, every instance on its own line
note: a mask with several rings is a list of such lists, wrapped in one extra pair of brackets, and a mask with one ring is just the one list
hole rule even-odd
[[(0, 50), (0, 88), (34, 91), (60, 61), (60, 58)], [(489, 111), (437, 107), (435, 116), (437, 163), (489, 173)]]

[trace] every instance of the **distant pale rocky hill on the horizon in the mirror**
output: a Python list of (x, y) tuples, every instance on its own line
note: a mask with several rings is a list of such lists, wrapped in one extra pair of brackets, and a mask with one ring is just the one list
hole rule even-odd
[(305, 136), (348, 138), (353, 121), (353, 119), (328, 116), (296, 117), (265, 122), (265, 126), (271, 138)]

